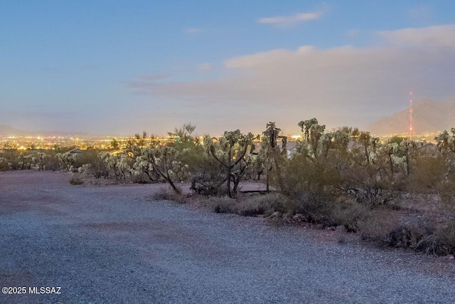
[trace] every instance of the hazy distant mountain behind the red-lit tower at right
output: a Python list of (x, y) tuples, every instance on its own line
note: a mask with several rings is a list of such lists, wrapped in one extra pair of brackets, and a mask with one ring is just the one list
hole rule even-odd
[[(450, 130), (455, 127), (455, 99), (439, 102), (422, 99), (412, 106), (412, 127), (416, 134)], [(365, 130), (379, 135), (406, 133), (410, 127), (410, 109), (407, 108), (392, 116), (382, 117), (365, 127)]]

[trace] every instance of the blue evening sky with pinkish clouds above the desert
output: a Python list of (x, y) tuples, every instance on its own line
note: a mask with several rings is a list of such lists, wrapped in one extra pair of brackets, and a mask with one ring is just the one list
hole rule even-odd
[(0, 0), (0, 124), (363, 128), (455, 98), (455, 1)]

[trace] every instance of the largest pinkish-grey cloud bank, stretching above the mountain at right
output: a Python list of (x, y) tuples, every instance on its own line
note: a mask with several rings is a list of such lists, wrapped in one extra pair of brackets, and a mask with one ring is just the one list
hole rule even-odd
[[(255, 123), (272, 120), (290, 130), (310, 117), (331, 127), (362, 127), (407, 107), (410, 90), (439, 100), (454, 97), (455, 25), (375, 35), (384, 41), (381, 46), (277, 49), (229, 58), (225, 76), (213, 80), (130, 85), (186, 105), (205, 103), (201, 115), (241, 104), (255, 113)], [(253, 125), (233, 121), (232, 127)]]

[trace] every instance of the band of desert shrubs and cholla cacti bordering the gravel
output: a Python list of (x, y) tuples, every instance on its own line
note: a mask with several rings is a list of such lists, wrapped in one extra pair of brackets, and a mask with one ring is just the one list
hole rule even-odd
[[(318, 120), (299, 122), (303, 140), (287, 150), (287, 137), (269, 122), (259, 136), (240, 130), (216, 139), (195, 135), (191, 123), (169, 132), (163, 145), (145, 132), (115, 150), (71, 153), (0, 152), (0, 171), (62, 169), (117, 182), (165, 182), (154, 199), (193, 198), (219, 213), (296, 219), (342, 226), (363, 239), (434, 254), (455, 253), (455, 129), (427, 149), (392, 137), (386, 142), (352, 127), (326, 132)], [(255, 150), (255, 146), (259, 150)], [(266, 185), (267, 194), (242, 194), (245, 179)], [(412, 212), (411, 212), (412, 211)]]

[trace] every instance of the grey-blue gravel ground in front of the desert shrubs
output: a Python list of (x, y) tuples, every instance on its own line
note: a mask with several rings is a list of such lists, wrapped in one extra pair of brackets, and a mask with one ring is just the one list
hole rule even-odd
[(61, 287), (0, 303), (455, 303), (454, 268), (427, 256), (68, 179), (0, 173), (0, 287)]

